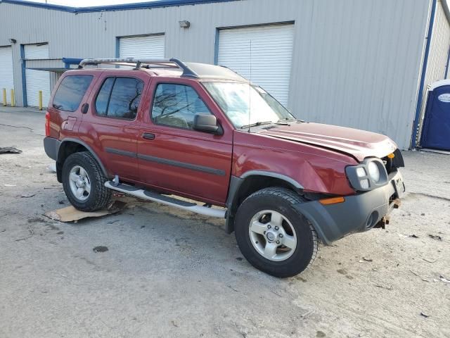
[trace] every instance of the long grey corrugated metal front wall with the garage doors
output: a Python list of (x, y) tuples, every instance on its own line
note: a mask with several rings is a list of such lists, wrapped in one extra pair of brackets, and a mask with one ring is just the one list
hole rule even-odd
[(213, 63), (217, 27), (293, 21), (293, 113), (382, 132), (407, 148), (429, 8), (429, 0), (243, 0), (75, 15), (3, 3), (0, 45), (18, 41), (17, 86), (20, 44), (49, 42), (50, 58), (113, 57), (116, 37), (165, 33), (167, 57)]

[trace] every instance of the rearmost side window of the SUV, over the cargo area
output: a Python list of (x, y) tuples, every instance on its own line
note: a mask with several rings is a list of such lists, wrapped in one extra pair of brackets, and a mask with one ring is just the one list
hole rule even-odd
[(60, 111), (76, 111), (91, 81), (91, 75), (64, 77), (53, 98), (53, 108)]

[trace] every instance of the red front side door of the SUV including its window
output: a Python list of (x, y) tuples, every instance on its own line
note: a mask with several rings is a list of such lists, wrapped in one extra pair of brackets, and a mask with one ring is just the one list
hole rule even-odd
[[(141, 181), (162, 190), (224, 204), (228, 192), (232, 131), (196, 81), (154, 78), (149, 111), (139, 132)], [(224, 134), (193, 130), (195, 114), (214, 114)]]

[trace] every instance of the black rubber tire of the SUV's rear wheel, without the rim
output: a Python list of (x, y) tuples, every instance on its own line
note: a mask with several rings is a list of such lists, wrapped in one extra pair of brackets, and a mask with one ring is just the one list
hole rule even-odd
[[(80, 166), (86, 170), (91, 184), (91, 192), (87, 199), (80, 201), (70, 188), (70, 170), (75, 166)], [(111, 200), (112, 192), (105, 187), (105, 182), (108, 180), (103, 174), (100, 165), (87, 151), (75, 153), (66, 158), (63, 165), (63, 188), (65, 196), (68, 197), (70, 204), (81, 211), (96, 211), (108, 206)]]

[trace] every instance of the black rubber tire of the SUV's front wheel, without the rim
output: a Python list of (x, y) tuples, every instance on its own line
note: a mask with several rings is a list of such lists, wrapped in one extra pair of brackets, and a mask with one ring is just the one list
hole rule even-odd
[[(243, 256), (255, 268), (275, 277), (292, 277), (314, 262), (319, 251), (316, 230), (304, 215), (293, 208), (293, 204), (303, 201), (299, 194), (290, 189), (270, 187), (251, 194), (239, 206), (235, 222), (236, 241)], [(297, 234), (295, 250), (284, 261), (271, 261), (265, 258), (252, 244), (249, 234), (250, 221), (257, 213), (265, 210), (281, 213)]]

